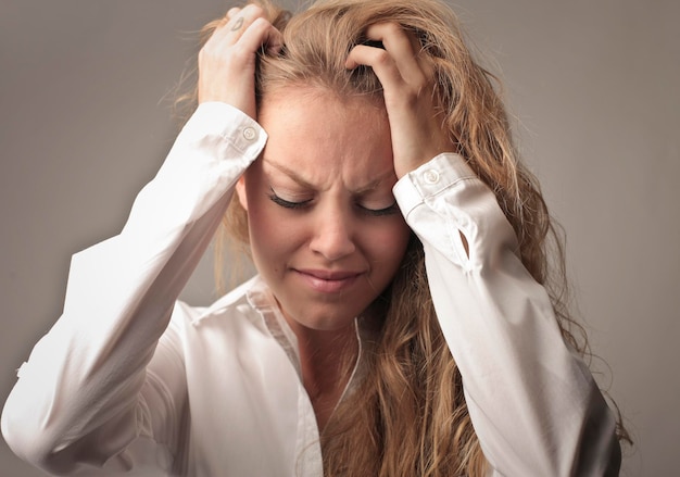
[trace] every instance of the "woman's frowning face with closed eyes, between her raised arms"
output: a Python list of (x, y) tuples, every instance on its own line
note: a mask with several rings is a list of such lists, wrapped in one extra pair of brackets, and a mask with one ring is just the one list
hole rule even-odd
[(264, 152), (237, 187), (253, 261), (293, 330), (338, 330), (389, 285), (410, 229), (385, 110), (286, 88), (265, 98)]

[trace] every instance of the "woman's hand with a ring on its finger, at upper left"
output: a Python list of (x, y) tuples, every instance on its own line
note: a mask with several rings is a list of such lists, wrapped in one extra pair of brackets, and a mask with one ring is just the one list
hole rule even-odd
[(255, 54), (277, 53), (282, 38), (256, 5), (229, 10), (199, 52), (199, 103), (222, 101), (256, 118)]

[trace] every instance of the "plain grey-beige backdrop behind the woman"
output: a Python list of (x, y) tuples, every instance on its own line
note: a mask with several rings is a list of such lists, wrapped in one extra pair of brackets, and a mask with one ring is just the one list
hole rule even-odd
[[(606, 362), (594, 367), (635, 439), (622, 475), (675, 474), (680, 2), (454, 7), (505, 81), (524, 155), (567, 231), (578, 309)], [(117, 234), (162, 163), (197, 30), (227, 8), (0, 0), (1, 402), (60, 315), (71, 255)], [(210, 261), (185, 292), (192, 304), (214, 299)], [(42, 474), (2, 441), (0, 475)]]

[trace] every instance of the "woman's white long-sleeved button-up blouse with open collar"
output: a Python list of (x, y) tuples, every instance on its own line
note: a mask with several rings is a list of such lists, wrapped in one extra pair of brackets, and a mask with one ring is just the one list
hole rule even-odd
[[(206, 309), (176, 301), (266, 139), (238, 110), (201, 104), (122, 233), (73, 256), (63, 315), (2, 412), (18, 456), (68, 475), (322, 476), (295, 337), (266, 285)], [(394, 196), (491, 474), (617, 475), (614, 414), (493, 193), (449, 153)]]

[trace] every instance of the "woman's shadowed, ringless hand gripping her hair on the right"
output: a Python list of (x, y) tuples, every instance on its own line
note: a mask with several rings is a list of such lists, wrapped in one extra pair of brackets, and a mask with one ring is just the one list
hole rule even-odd
[(385, 49), (356, 46), (345, 66), (370, 66), (382, 84), (394, 171), (401, 178), (437, 154), (455, 149), (442, 127), (443, 115), (433, 95), (433, 63), (420, 52), (415, 35), (395, 23), (378, 23), (368, 27), (366, 36), (381, 41)]

